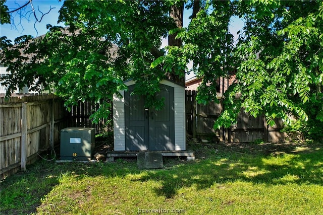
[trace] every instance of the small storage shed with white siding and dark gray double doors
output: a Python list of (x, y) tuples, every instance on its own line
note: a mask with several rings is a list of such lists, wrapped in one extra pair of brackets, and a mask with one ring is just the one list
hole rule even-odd
[(131, 95), (135, 82), (125, 83), (128, 91), (114, 95), (115, 151), (184, 151), (185, 88), (168, 80), (160, 82), (159, 97), (165, 97), (160, 111), (144, 107), (144, 98)]

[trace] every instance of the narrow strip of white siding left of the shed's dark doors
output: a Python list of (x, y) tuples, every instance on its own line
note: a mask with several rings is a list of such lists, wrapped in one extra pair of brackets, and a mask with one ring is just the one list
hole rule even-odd
[(120, 91), (122, 98), (113, 96), (113, 124), (115, 151), (126, 150), (125, 139), (125, 99), (124, 91)]

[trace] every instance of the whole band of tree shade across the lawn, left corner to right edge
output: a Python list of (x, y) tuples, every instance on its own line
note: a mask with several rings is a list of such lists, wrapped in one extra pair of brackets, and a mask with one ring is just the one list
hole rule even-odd
[(203, 158), (195, 162), (166, 160), (166, 169), (138, 170), (136, 159), (120, 159), (114, 163), (64, 163), (38, 162), (29, 166), (25, 173), (18, 173), (1, 183), (1, 213), (26, 214), (35, 212), (45, 197), (61, 183), (61, 176), (69, 172), (71, 177), (81, 180), (84, 177), (121, 177), (137, 175), (133, 181), (155, 180), (162, 186), (154, 192), (166, 198), (174, 197), (182, 187), (194, 186), (205, 189), (213, 185), (237, 180), (251, 183), (275, 184), (318, 184), (323, 183), (323, 148), (304, 152), (291, 149), (288, 153), (277, 151), (253, 155), (233, 152), (228, 149), (199, 148)]

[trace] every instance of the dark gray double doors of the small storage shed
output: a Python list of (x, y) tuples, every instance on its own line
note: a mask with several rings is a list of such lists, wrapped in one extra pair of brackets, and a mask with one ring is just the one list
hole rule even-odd
[(174, 88), (160, 85), (157, 97), (165, 98), (164, 108), (145, 108), (144, 99), (125, 92), (125, 126), (127, 151), (174, 150)]

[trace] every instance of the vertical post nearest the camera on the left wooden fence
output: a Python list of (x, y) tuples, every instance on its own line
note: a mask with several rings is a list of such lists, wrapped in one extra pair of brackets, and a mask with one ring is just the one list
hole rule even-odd
[(21, 170), (27, 166), (27, 102), (21, 108)]

